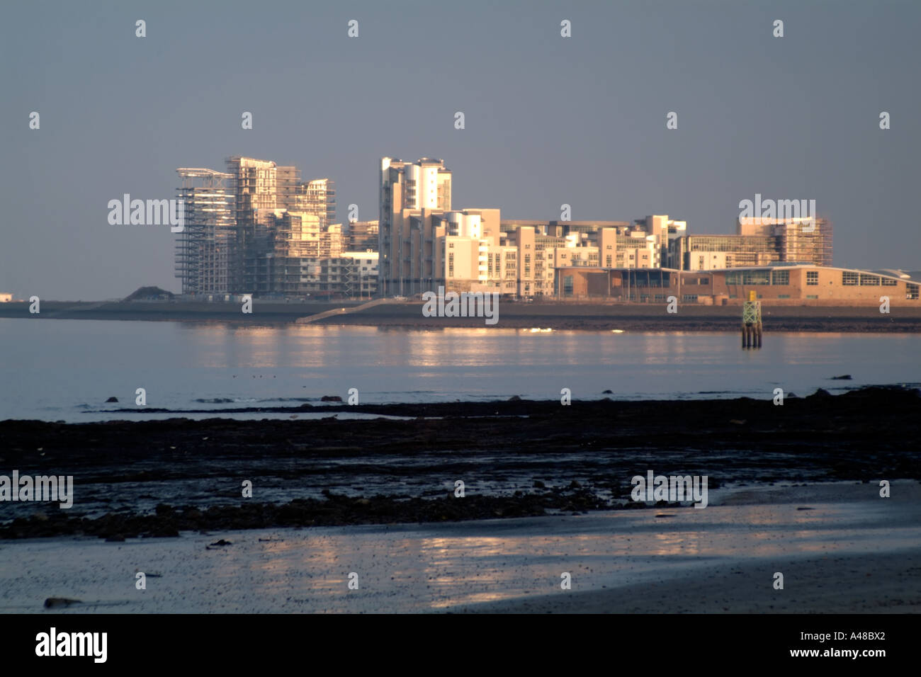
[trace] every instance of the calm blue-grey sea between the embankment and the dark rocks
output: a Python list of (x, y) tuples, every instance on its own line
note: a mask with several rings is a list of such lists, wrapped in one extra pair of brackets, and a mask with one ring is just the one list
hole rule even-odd
[[(295, 406), (350, 388), (362, 403), (549, 400), (563, 388), (574, 399), (769, 399), (775, 388), (918, 387), (919, 346), (916, 334), (769, 333), (743, 351), (737, 333), (0, 319), (0, 420), (175, 415), (144, 414), (137, 388), (147, 407), (176, 410)], [(831, 380), (841, 374), (853, 379)], [(141, 411), (105, 411), (120, 407)]]

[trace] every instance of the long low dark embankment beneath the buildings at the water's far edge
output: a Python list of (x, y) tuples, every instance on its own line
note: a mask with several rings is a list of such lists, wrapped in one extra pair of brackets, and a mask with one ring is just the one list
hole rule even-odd
[[(256, 298), (252, 312), (242, 312), (237, 303), (189, 301), (41, 301), (41, 312), (29, 313), (28, 302), (0, 304), (0, 318), (115, 321), (224, 322), (246, 326), (273, 326), (297, 323), (312, 315), (332, 312), (311, 321), (315, 325), (356, 325), (436, 329), (446, 327), (486, 327), (488, 329), (549, 328), (557, 331), (624, 332), (736, 332), (741, 322), (738, 306), (680, 304), (669, 313), (665, 304), (601, 303), (591, 301), (502, 302), (498, 321), (486, 325), (483, 318), (425, 317), (421, 301), (394, 301), (340, 314), (367, 301), (280, 302)], [(871, 306), (763, 306), (764, 332), (921, 332), (921, 307), (893, 306), (881, 313)]]

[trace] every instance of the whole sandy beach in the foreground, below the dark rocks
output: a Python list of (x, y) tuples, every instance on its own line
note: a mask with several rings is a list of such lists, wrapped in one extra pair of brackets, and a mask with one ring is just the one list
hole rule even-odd
[[(918, 612), (921, 484), (878, 492), (769, 486), (711, 490), (704, 509), (6, 541), (0, 613)], [(221, 539), (232, 544), (209, 545)], [(48, 597), (82, 603), (46, 611)]]

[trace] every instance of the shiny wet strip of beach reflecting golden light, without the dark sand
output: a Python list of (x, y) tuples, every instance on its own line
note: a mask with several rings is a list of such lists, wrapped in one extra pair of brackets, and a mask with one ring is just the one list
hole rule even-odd
[[(909, 486), (903, 491), (908, 493)], [(573, 590), (657, 584), (745, 562), (773, 572), (797, 557), (897, 553), (921, 543), (921, 506), (902, 500), (705, 509), (657, 508), (583, 517), (501, 519), (274, 531), (179, 539), (29, 539), (0, 557), (0, 611), (41, 611), (49, 589), (102, 602), (64, 613), (419, 612)], [(808, 526), (806, 522), (809, 522)], [(893, 556), (897, 556), (894, 555)], [(123, 572), (168, 585), (123, 595)], [(359, 588), (348, 589), (351, 572)], [(702, 574), (703, 575), (703, 574)], [(159, 580), (159, 579), (157, 579)]]

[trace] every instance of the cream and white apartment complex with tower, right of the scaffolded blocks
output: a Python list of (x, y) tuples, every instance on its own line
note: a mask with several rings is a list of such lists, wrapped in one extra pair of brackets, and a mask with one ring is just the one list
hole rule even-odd
[(498, 209), (452, 209), (451, 172), (443, 160), (380, 160), (379, 288), (384, 296), (411, 296), (437, 286), (550, 296), (556, 268), (656, 267), (686, 228), (667, 215), (635, 224), (502, 221)]

